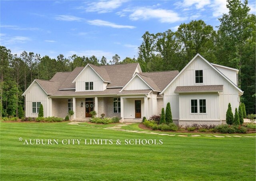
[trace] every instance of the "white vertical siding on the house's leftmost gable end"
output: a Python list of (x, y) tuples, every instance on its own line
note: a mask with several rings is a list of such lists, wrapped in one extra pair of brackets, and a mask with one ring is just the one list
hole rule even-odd
[(32, 102), (41, 102), (44, 108), (44, 117), (49, 116), (48, 95), (37, 82), (34, 82), (26, 93), (26, 117), (38, 117), (38, 113), (32, 113)]

